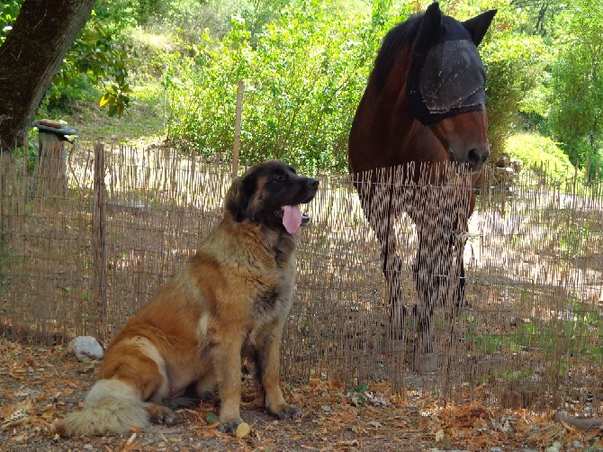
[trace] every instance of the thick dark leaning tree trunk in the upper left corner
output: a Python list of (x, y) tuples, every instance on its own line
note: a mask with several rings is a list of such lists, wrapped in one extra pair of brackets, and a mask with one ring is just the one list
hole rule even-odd
[(25, 0), (0, 47), (0, 151), (23, 143), (94, 0)]

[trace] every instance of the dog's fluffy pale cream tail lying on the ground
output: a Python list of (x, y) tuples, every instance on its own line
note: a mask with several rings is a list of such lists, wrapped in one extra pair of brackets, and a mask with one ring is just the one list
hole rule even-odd
[(99, 380), (85, 396), (84, 411), (67, 414), (56, 424), (64, 437), (125, 434), (148, 428), (148, 411), (136, 390), (120, 380)]

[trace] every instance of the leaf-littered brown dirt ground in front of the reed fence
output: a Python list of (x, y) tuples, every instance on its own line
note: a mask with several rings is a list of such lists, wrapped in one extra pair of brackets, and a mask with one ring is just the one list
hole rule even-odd
[(242, 438), (216, 429), (216, 402), (176, 411), (171, 427), (58, 438), (53, 422), (81, 409), (97, 364), (76, 361), (66, 348), (0, 339), (0, 450), (603, 450), (600, 428), (580, 430), (551, 416), (474, 402), (441, 407), (435, 397), (415, 391), (394, 393), (387, 382), (350, 388), (320, 378), (284, 383), (285, 397), (304, 413), (301, 420), (287, 421), (274, 420), (258, 406), (246, 378), (242, 417), (251, 429)]

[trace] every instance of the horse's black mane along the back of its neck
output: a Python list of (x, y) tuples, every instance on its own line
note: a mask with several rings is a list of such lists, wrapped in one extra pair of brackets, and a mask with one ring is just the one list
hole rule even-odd
[(425, 14), (412, 14), (406, 21), (399, 23), (387, 32), (377, 58), (374, 60), (374, 89), (381, 91), (393, 63), (404, 47), (417, 38)]

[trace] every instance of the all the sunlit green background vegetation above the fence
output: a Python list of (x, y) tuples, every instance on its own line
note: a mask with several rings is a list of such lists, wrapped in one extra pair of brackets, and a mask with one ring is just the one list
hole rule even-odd
[[(0, 43), (21, 0), (0, 5)], [(242, 158), (347, 168), (347, 134), (383, 35), (429, 0), (98, 0), (39, 116), (117, 140), (155, 135), (227, 157), (245, 82)], [(497, 8), (481, 46), (492, 161), (603, 158), (603, 5), (590, 0), (442, 0), (467, 19)], [(112, 119), (99, 116), (98, 107)], [(76, 122), (76, 123), (72, 123)], [(84, 123), (82, 123), (84, 122)], [(94, 137), (95, 138), (95, 137)], [(509, 140), (510, 138), (510, 140)]]

